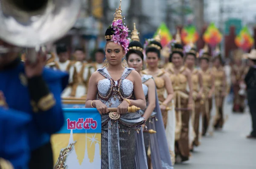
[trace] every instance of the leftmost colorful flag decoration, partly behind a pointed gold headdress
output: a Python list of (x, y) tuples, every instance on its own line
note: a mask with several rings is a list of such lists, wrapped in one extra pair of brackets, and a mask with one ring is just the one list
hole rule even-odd
[(170, 34), (170, 31), (165, 23), (161, 23), (161, 25), (157, 28), (154, 37), (157, 36), (159, 31), (161, 35), (161, 45), (165, 46), (172, 40), (172, 34)]

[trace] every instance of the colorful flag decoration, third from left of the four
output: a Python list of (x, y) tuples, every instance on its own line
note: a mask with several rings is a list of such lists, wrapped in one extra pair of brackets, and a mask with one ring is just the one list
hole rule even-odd
[(215, 48), (222, 40), (222, 34), (215, 26), (214, 23), (210, 23), (203, 36), (204, 42), (208, 43), (212, 48)]

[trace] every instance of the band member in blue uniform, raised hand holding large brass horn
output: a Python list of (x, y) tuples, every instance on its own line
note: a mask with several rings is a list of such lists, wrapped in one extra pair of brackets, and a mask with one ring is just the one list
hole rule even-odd
[[(64, 124), (61, 91), (68, 75), (44, 68), (46, 56), (38, 54), (36, 62), (20, 62), (19, 47), (0, 40), (6, 53), (0, 54), (0, 90), (10, 109), (32, 117), (28, 122), (29, 169), (50, 169), (53, 166), (50, 136)], [(28, 57), (29, 58), (29, 57)]]

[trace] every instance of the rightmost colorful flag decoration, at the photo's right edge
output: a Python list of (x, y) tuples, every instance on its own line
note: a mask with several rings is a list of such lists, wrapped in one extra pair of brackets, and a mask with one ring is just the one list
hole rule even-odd
[(239, 48), (244, 51), (247, 51), (253, 46), (254, 39), (250, 35), (250, 31), (247, 26), (244, 26), (244, 28), (242, 28), (240, 33), (236, 36), (235, 43)]

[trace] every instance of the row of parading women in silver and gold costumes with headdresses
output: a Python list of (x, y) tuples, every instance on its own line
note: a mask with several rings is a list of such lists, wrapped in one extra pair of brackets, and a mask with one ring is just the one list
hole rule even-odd
[[(220, 51), (217, 48), (211, 57), (206, 45), (198, 57), (194, 45), (183, 49), (177, 33), (170, 48), (170, 63), (158, 68), (160, 35), (144, 48), (134, 24), (129, 42), (120, 6), (114, 16), (105, 33), (105, 67), (90, 74), (86, 96), (86, 107), (96, 107), (102, 114), (102, 169), (171, 169), (175, 162), (189, 160), (190, 151), (200, 144), (209, 126), (218, 129), (224, 124), (226, 79)], [(148, 65), (145, 70), (144, 58)], [(195, 68), (198, 58), (200, 69)], [(210, 124), (213, 96), (216, 115)], [(126, 113), (128, 106), (141, 110)], [(120, 115), (109, 113), (109, 107), (118, 107)]]

